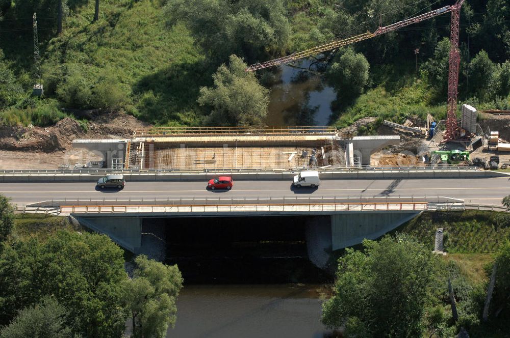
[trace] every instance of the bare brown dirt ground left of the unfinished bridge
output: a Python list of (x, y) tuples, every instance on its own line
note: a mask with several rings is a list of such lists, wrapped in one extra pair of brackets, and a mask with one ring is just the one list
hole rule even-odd
[(59, 164), (97, 160), (90, 152), (72, 149), (75, 138), (129, 138), (150, 125), (123, 113), (105, 113), (88, 122), (87, 131), (71, 118), (54, 126), (0, 127), (0, 169), (56, 169)]

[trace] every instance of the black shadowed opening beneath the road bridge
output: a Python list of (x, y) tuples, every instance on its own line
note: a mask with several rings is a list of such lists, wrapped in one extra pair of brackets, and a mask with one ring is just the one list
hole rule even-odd
[(142, 234), (142, 245), (165, 241), (165, 263), (179, 265), (187, 284), (333, 279), (311, 262), (330, 253), (329, 216), (144, 218)]

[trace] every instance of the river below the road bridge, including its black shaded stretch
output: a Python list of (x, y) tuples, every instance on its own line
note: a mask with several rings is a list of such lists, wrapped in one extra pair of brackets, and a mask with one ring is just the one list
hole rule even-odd
[(308, 259), (310, 217), (151, 220), (166, 230), (165, 263), (184, 277), (167, 336), (328, 336), (318, 290), (333, 276)]

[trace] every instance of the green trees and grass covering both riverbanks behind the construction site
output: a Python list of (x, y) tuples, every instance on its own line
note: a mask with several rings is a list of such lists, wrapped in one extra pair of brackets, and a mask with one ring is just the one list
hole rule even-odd
[[(252, 102), (200, 98), (215, 90), (212, 75), (235, 54), (246, 64), (263, 62), (379, 24), (397, 22), (453, 1), (362, 0), (102, 0), (63, 1), (63, 32), (50, 0), (0, 0), (0, 121), (52, 124), (60, 108), (121, 110), (159, 125), (217, 123), (218, 105), (229, 124), (260, 123), (232, 117)], [(31, 97), (35, 83), (32, 15), (37, 12), (45, 95)], [(401, 120), (446, 111), (450, 15), (318, 55), (317, 71), (337, 91), (333, 123), (366, 116)], [(459, 100), (477, 108), (510, 108), (510, 6), (473, 0), (461, 11)], [(419, 48), (415, 59), (414, 50)], [(268, 89), (275, 70), (258, 71)], [(277, 79), (276, 79), (277, 80)], [(235, 80), (233, 83), (237, 83)], [(211, 87), (213, 86), (213, 87)], [(264, 89), (251, 98), (264, 97)], [(201, 105), (197, 102), (199, 100)], [(264, 102), (264, 100), (262, 100)], [(258, 109), (267, 109), (261, 104)], [(259, 116), (263, 117), (264, 114)], [(225, 120), (220, 121), (226, 123)], [(247, 122), (248, 121), (248, 122)], [(250, 122), (251, 121), (251, 122)]]

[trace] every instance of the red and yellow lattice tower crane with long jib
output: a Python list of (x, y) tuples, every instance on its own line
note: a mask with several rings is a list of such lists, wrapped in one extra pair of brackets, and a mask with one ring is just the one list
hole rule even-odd
[(386, 34), (388, 32), (396, 31), (402, 27), (409, 26), (411, 24), (415, 24), (424, 20), (428, 20), (430, 18), (443, 15), (445, 13), (451, 12), (451, 24), (450, 24), (450, 42), (451, 49), (449, 54), (449, 63), (448, 63), (448, 100), (447, 100), (447, 119), (446, 119), (446, 133), (445, 139), (451, 140), (455, 139), (457, 135), (457, 117), (455, 115), (455, 111), (457, 109), (457, 86), (458, 86), (458, 67), (460, 65), (461, 57), (460, 51), (458, 49), (458, 33), (459, 33), (459, 23), (461, 16), (461, 6), (465, 0), (457, 0), (457, 2), (452, 6), (445, 6), (437, 10), (433, 10), (427, 12), (425, 14), (421, 14), (410, 19), (405, 19), (402, 21), (398, 21), (396, 23), (390, 24), (384, 27), (378, 27), (378, 29), (374, 33), (363, 33), (360, 35), (356, 35), (350, 37), (348, 39), (337, 40), (330, 43), (327, 43), (322, 46), (313, 47), (307, 50), (303, 50), (300, 52), (292, 53), (283, 58), (278, 58), (270, 61), (266, 61), (263, 63), (257, 63), (250, 65), (244, 71), (252, 72), (259, 69), (264, 69), (276, 65), (281, 65), (285, 63), (289, 63), (292, 61), (296, 61), (299, 59), (307, 58), (310, 55), (318, 54), (327, 50), (336, 49), (339, 47), (343, 47), (349, 45), (354, 42), (363, 41), (367, 39), (371, 39), (378, 35)]

